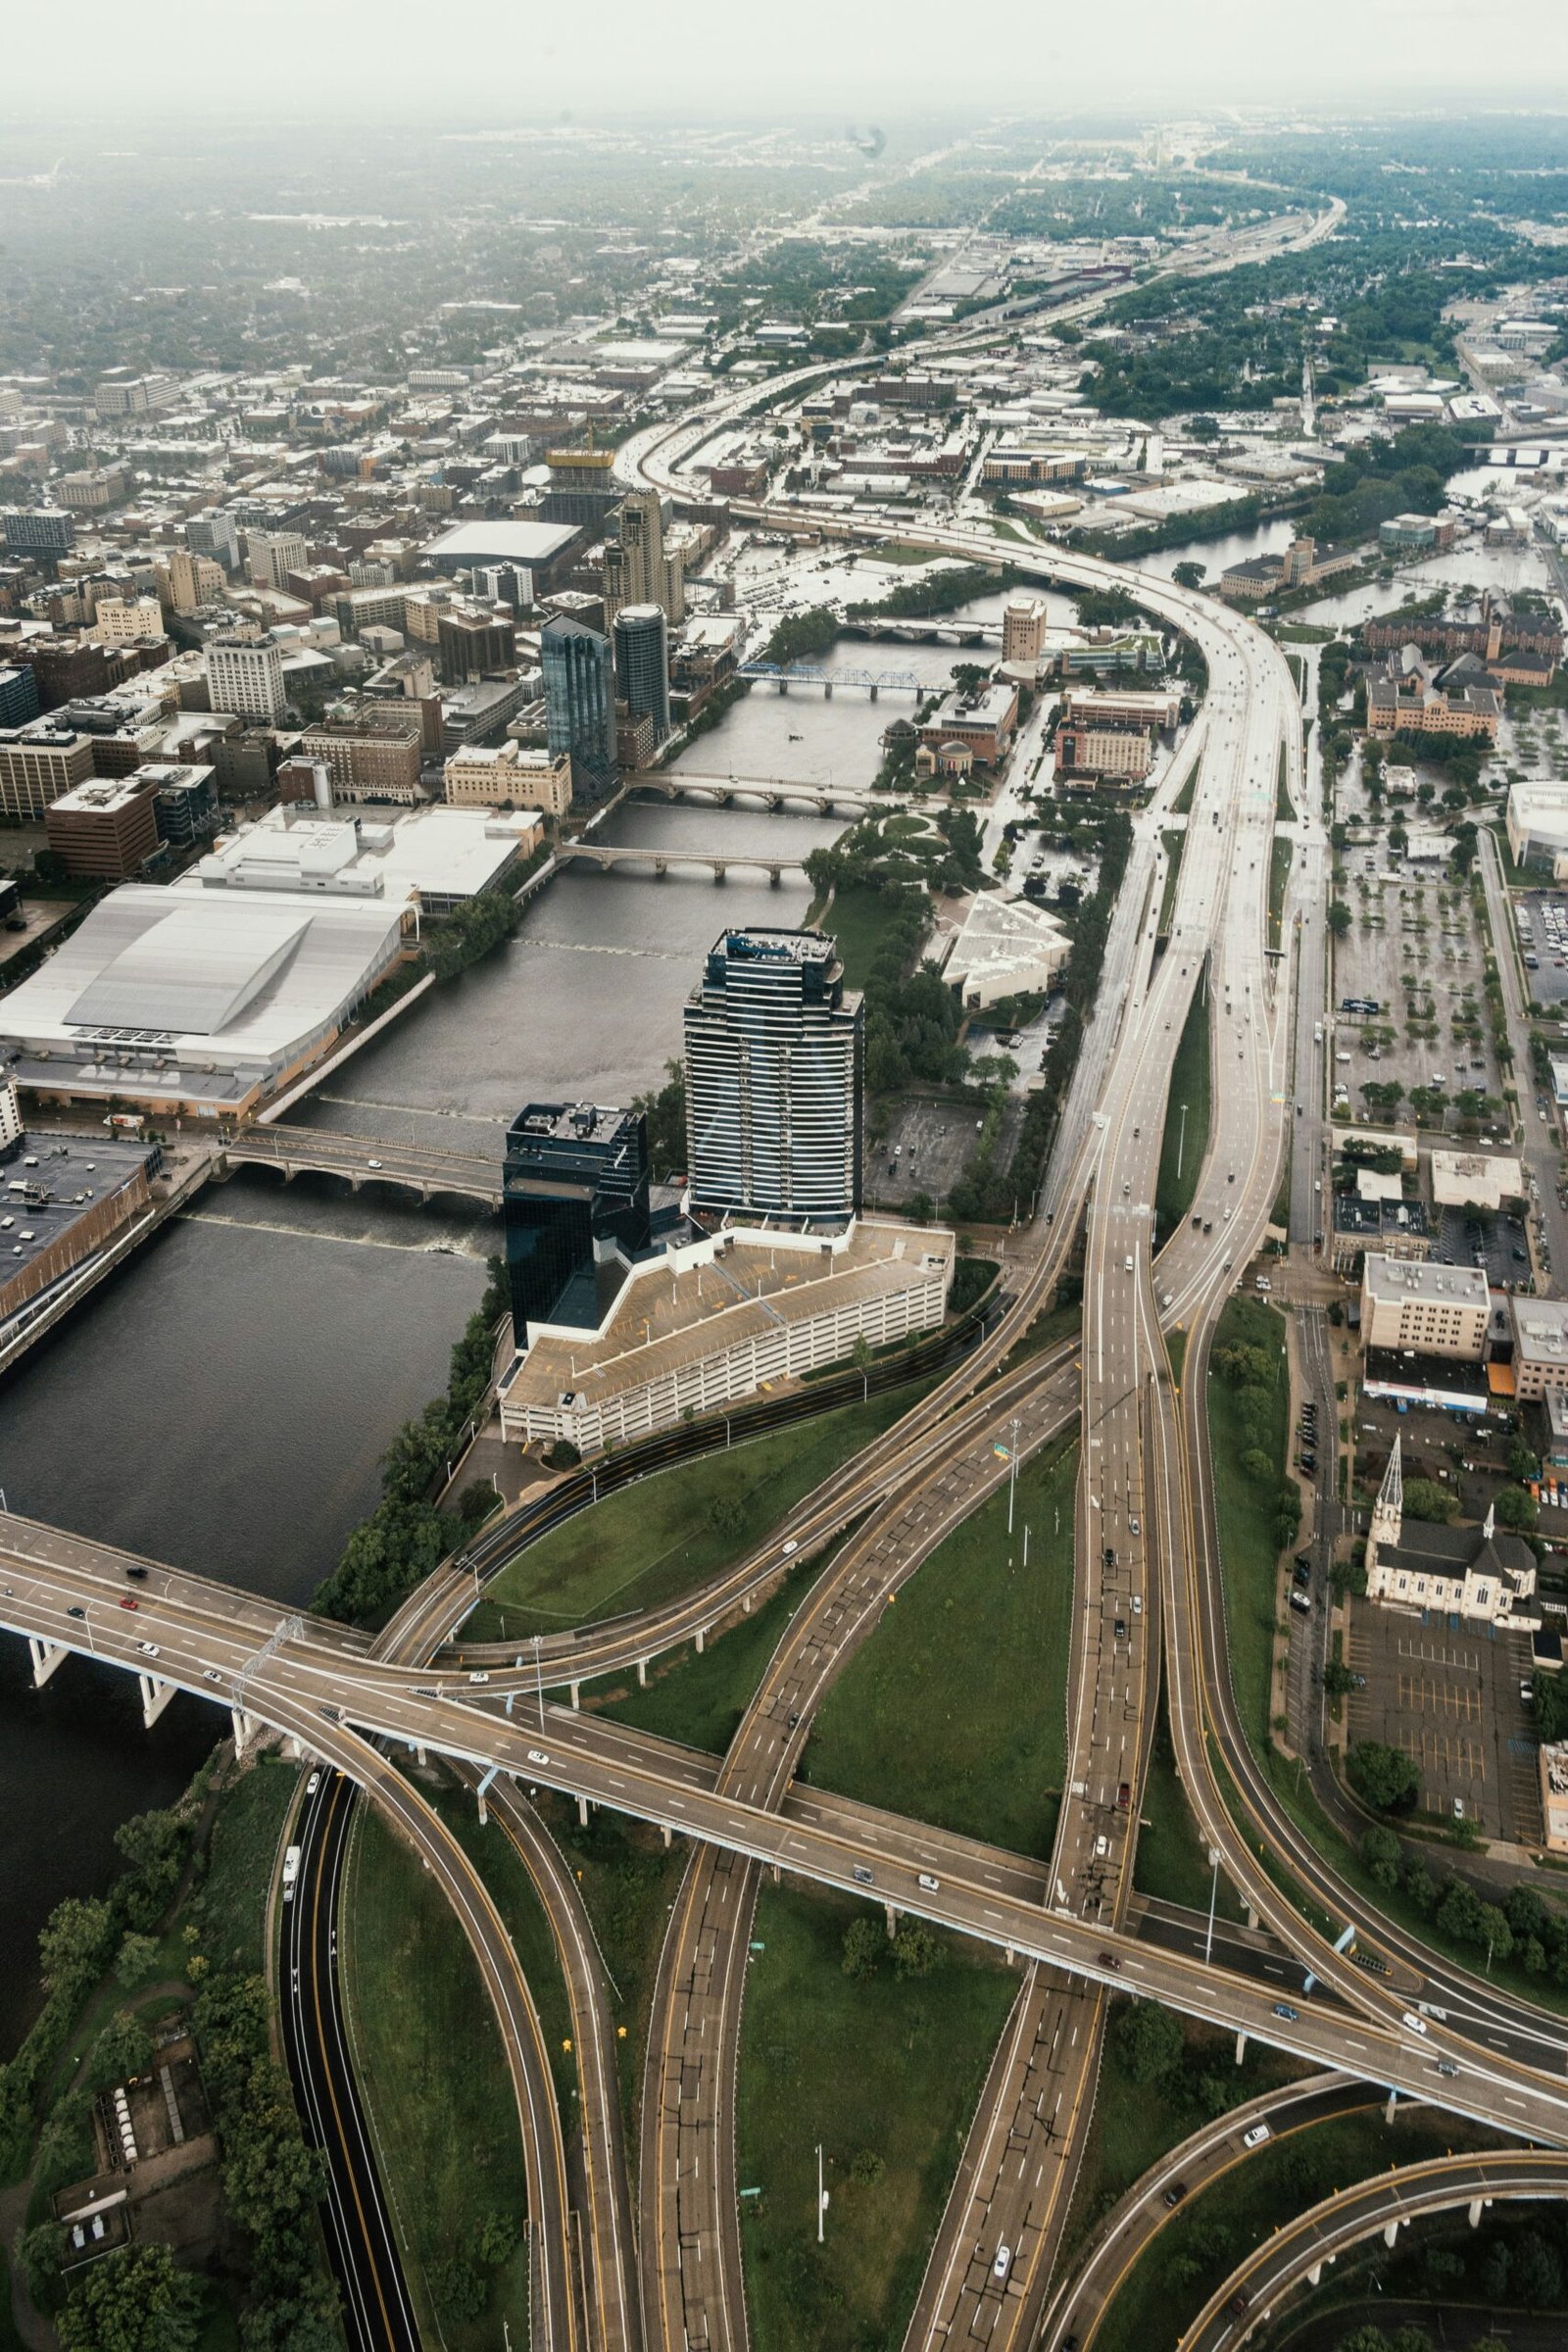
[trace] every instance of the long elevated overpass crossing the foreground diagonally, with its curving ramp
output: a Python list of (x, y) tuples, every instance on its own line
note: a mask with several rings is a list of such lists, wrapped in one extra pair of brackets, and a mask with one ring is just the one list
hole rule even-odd
[[(63, 1592), (49, 1585), (54, 1578), (49, 1583), (33, 1578), (26, 1590), (16, 1588), (5, 1597), (5, 1623), (21, 1632), (59, 1632)], [(127, 1632), (134, 1621), (101, 1604), (94, 1609), (94, 1621), (96, 1656), (134, 1670), (136, 1637)], [(223, 1661), (226, 1679), (240, 1670), (242, 1646), (221, 1623), (214, 1625), (205, 1616), (181, 1618), (169, 1602), (162, 1602), (153, 1630), (162, 1637), (160, 1672), (183, 1689), (200, 1693), (207, 1658)], [(421, 1828), (428, 1832), (430, 1867), (458, 1907), (491, 1999), (510, 2018), (508, 2063), (520, 2110), (529, 2114), (524, 2150), (531, 2150), (531, 2161), (545, 2169), (545, 2178), (531, 2178), (531, 2211), (550, 2209), (562, 2237), (567, 2185), (559, 2129), (552, 2107), (531, 2105), (536, 2091), (550, 2100), (548, 2070), (543, 2070), (538, 2020), (531, 2006), (527, 2016), (520, 2009), (505, 1959), (503, 1922), (440, 1818), (386, 1757), (350, 1729), (355, 1724), (371, 1736), (435, 1750), (482, 1771), (496, 1766), (498, 1773), (522, 1783), (562, 1788), (583, 1802), (607, 1804), (672, 1832), (682, 1830), (846, 1893), (863, 1893), (896, 1912), (931, 1919), (1027, 1959), (1051, 1962), (1100, 1985), (1138, 1990), (1232, 2032), (1272, 2042), (1309, 2063), (1420, 2093), (1493, 2129), (1547, 2145), (1568, 2143), (1568, 2082), (1561, 2072), (1549, 2079), (1507, 2053), (1493, 2056), (1436, 2016), (1418, 2025), (1378, 2025), (1361, 2018), (1345, 2020), (1338, 2004), (1328, 2009), (1305, 1997), (1298, 2016), (1281, 2016), (1269, 1985), (1248, 1983), (1180, 1952), (1154, 1950), (1063, 1907), (1041, 1910), (1039, 1865), (997, 1853), (976, 1839), (903, 1820), (825, 1790), (792, 1792), (785, 1806), (771, 1811), (717, 1790), (710, 1757), (607, 1717), (574, 1715), (569, 1708), (545, 1710), (548, 1745), (541, 1745), (538, 1724), (524, 1722), (522, 1715), (512, 1722), (470, 1700), (388, 1691), (376, 1668), (364, 1665), (346, 1675), (331, 1653), (313, 1644), (284, 1642), (270, 1658), (256, 1663), (247, 1696), (254, 1717), (322, 1752), (369, 1788), (404, 1835), (418, 1839)], [(870, 1884), (858, 1872), (870, 1872)], [(936, 1886), (929, 1879), (936, 1879)], [(1375, 1997), (1378, 1987), (1371, 1987), (1359, 1971), (1347, 1969), (1345, 1976), (1352, 2002), (1366, 2004), (1368, 1994)], [(538, 2086), (527, 2079), (529, 2053), (543, 2070)], [(1458, 2065), (1458, 2074), (1439, 2074), (1439, 2060)], [(564, 2279), (557, 2286), (564, 2291)]]

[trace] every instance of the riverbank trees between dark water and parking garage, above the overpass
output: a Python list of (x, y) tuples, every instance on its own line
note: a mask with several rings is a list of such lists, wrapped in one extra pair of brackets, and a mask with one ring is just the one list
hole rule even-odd
[(404, 1592), (440, 1566), (454, 1538), (489, 1512), (491, 1498), (484, 1486), (465, 1489), (456, 1522), (440, 1512), (430, 1496), (489, 1388), (491, 1336), (505, 1305), (505, 1268), (501, 1258), (491, 1258), (484, 1298), (451, 1350), (447, 1392), (433, 1397), (416, 1421), (404, 1421), (381, 1456), (381, 1501), (369, 1519), (360, 1519), (339, 1566), (310, 1602), (315, 1616), (353, 1623), (397, 1606)]

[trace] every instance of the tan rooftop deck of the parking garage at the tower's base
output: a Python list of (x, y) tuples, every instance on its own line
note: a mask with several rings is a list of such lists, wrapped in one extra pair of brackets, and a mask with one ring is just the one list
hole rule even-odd
[(945, 1228), (891, 1218), (860, 1218), (839, 1249), (820, 1235), (750, 1228), (719, 1235), (719, 1244), (708, 1265), (670, 1272), (663, 1256), (637, 1265), (599, 1338), (536, 1338), (503, 1383), (508, 1402), (555, 1406), (567, 1392), (602, 1399), (644, 1388), (780, 1322), (905, 1289), (917, 1270), (950, 1268), (954, 1254)]

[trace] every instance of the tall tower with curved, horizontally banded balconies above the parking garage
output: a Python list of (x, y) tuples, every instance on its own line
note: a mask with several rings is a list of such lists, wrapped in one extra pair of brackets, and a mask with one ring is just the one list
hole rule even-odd
[(724, 931), (686, 1000), (686, 1171), (705, 1214), (860, 1207), (865, 1011), (823, 931)]

